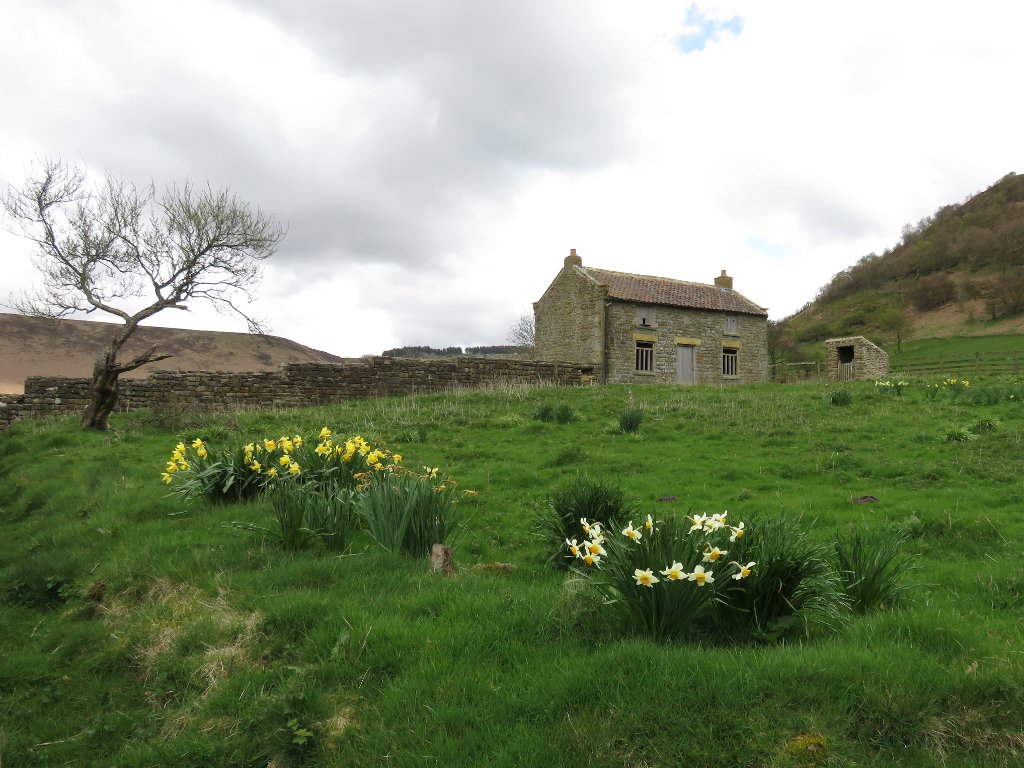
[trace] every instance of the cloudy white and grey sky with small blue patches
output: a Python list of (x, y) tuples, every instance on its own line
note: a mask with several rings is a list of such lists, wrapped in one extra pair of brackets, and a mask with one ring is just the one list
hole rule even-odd
[[(1009, 0), (0, 0), (0, 188), (42, 157), (227, 187), (288, 230), (247, 311), (343, 356), (504, 344), (570, 248), (726, 269), (779, 319), (1024, 172)], [(32, 254), (0, 232), (0, 303), (38, 282)], [(150, 324), (246, 330), (190, 309)]]

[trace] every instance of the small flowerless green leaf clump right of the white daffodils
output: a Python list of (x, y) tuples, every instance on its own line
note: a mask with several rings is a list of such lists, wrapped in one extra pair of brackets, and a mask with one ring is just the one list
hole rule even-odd
[(892, 607), (909, 587), (900, 581), (913, 557), (902, 553), (905, 535), (867, 542), (860, 534), (837, 538), (836, 562), (850, 606), (858, 613)]

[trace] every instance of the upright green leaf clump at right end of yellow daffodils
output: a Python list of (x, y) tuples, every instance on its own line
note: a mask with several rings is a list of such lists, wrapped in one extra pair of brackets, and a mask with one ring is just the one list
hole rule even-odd
[(453, 532), (455, 480), (425, 469), (422, 475), (408, 470), (375, 474), (362, 494), (359, 511), (367, 530), (389, 552), (424, 557)]

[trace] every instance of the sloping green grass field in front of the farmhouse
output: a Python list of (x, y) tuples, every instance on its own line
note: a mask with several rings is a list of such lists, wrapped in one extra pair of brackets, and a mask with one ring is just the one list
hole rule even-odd
[[(634, 388), (632, 434), (625, 387), (17, 423), (0, 432), (0, 765), (1021, 765), (1024, 385), (936, 383), (854, 383), (846, 406), (824, 385)], [(365, 534), (286, 551), (223, 525), (270, 525), (266, 500), (161, 483), (179, 439), (324, 426), (478, 493), (455, 575)], [(620, 632), (535, 534), (582, 473), (658, 520), (902, 537), (909, 589), (782, 640)]]

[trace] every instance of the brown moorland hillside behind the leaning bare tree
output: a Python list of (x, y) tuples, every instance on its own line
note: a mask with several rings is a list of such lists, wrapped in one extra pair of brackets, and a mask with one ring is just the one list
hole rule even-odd
[[(28, 376), (90, 376), (96, 353), (118, 326), (91, 321), (48, 321), (0, 313), (0, 392), (24, 391)], [(278, 336), (143, 326), (124, 348), (125, 358), (156, 345), (169, 359), (143, 366), (179, 371), (274, 371), (283, 362), (338, 362), (327, 352)]]

